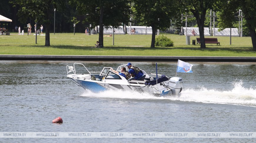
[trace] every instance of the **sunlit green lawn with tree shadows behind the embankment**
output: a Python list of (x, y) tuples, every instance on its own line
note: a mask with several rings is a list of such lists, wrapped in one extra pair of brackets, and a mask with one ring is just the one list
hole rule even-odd
[[(85, 35), (82, 33), (58, 33), (50, 34), (50, 47), (45, 47), (45, 36), (1, 35), (0, 54), (22, 55), (133, 55), (133, 56), (256, 56), (252, 50), (250, 37), (217, 37), (220, 46), (206, 44), (206, 49), (198, 45), (186, 45), (186, 37), (176, 34), (166, 34), (174, 41), (173, 47), (150, 48), (151, 35), (114, 35), (104, 37), (104, 48), (91, 48), (98, 41), (97, 35)], [(157, 36), (156, 36), (157, 37)], [(196, 39), (198, 36), (191, 36)]]

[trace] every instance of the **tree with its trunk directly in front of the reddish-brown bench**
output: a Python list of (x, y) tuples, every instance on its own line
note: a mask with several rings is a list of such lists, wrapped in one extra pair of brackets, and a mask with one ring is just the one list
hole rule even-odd
[(180, 4), (183, 6), (182, 12), (191, 11), (197, 20), (197, 26), (199, 28), (201, 48), (206, 48), (205, 46), (205, 36), (204, 36), (204, 25), (205, 25), (205, 15), (207, 9), (213, 9), (213, 6), (217, 4), (218, 0), (181, 0)]

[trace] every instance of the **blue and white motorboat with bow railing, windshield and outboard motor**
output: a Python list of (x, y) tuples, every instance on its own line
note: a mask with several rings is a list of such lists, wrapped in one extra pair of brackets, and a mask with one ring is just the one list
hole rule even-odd
[[(78, 68), (79, 67), (79, 68)], [(117, 72), (126, 64), (117, 68)], [(113, 91), (137, 91), (153, 94), (154, 96), (180, 96), (183, 88), (183, 81), (180, 77), (167, 77), (157, 73), (146, 73), (140, 79), (126, 79), (125, 77), (113, 72), (112, 67), (103, 67), (101, 72), (89, 72), (81, 63), (74, 63), (73, 66), (67, 65), (67, 77), (78, 86), (91, 92), (98, 93), (107, 90)]]

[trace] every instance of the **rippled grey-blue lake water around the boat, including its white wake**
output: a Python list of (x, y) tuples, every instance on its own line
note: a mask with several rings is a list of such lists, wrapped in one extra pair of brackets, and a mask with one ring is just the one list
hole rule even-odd
[[(0, 132), (256, 132), (256, 63), (189, 62), (181, 97), (92, 93), (67, 79), (75, 61), (0, 61)], [(76, 61), (89, 71), (121, 62)], [(132, 62), (155, 73), (154, 62)], [(177, 62), (158, 62), (175, 76)], [(56, 117), (63, 124), (53, 124)], [(0, 142), (255, 142), (255, 138), (1, 138)]]

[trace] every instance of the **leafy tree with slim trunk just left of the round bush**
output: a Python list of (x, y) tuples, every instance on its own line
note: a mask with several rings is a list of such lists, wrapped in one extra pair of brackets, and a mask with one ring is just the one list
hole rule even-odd
[(133, 0), (132, 10), (134, 19), (140, 19), (145, 26), (152, 27), (151, 47), (155, 47), (155, 32), (171, 26), (171, 19), (178, 13), (176, 0)]

